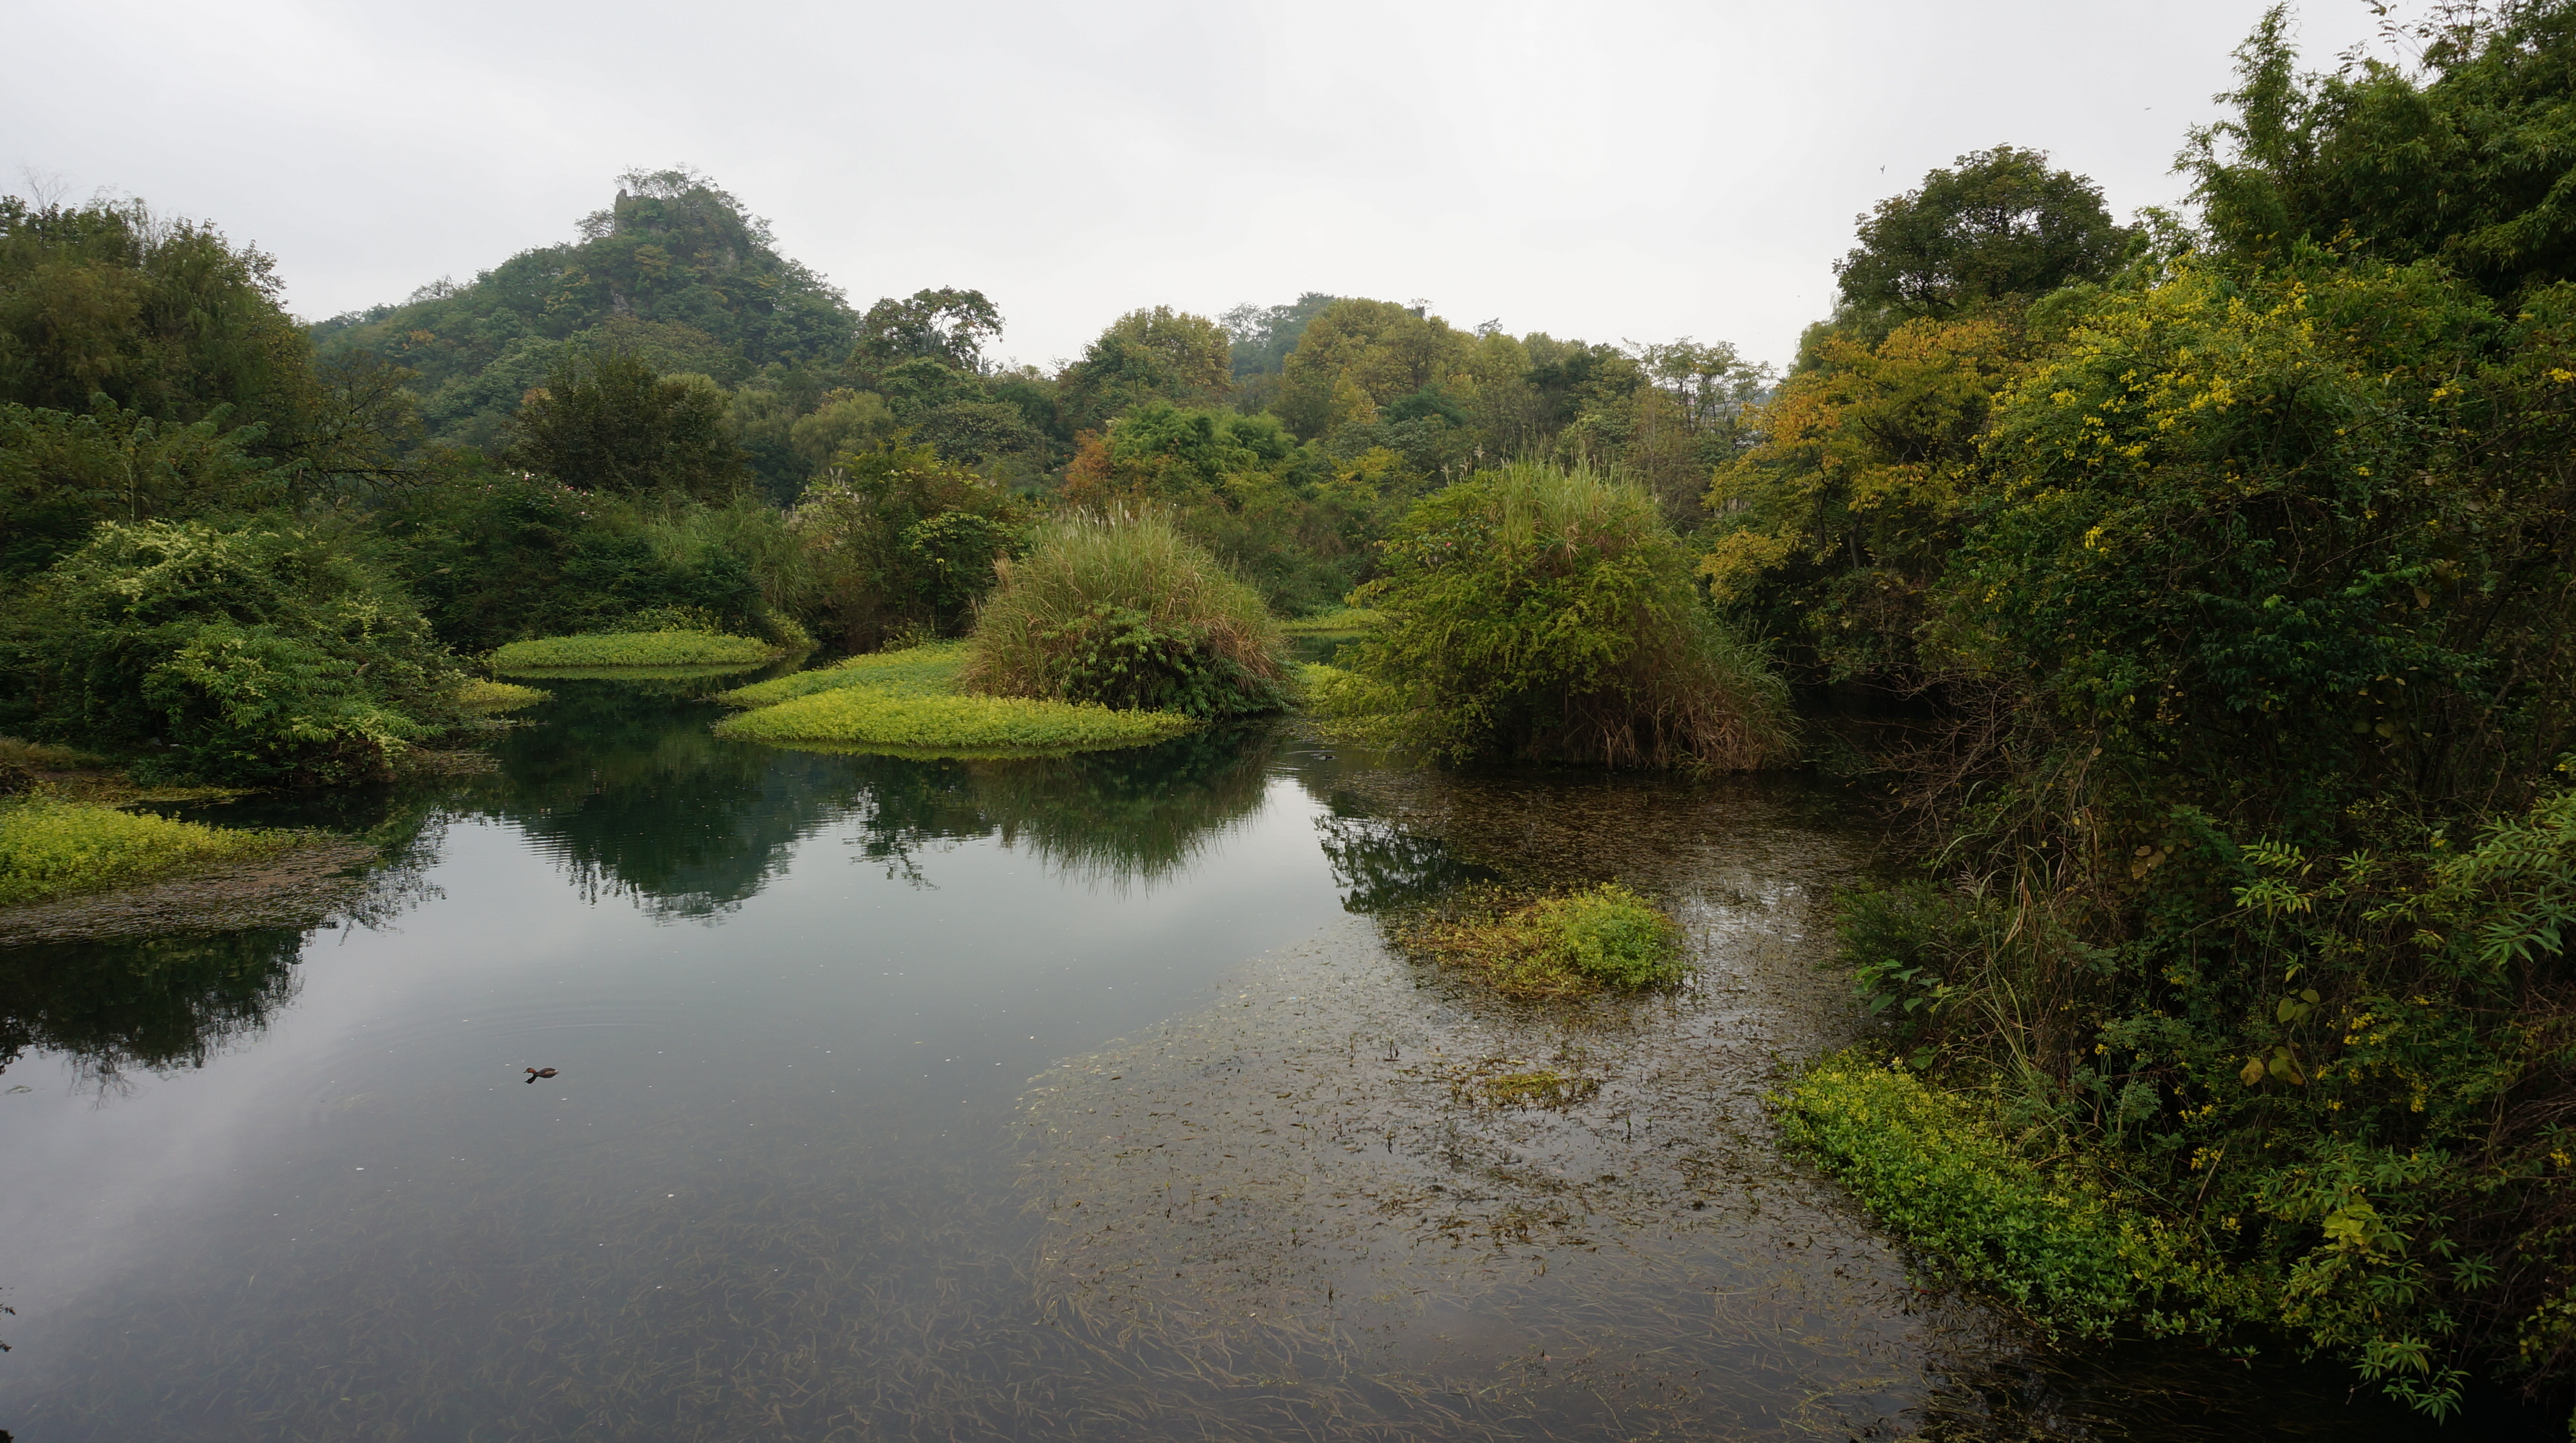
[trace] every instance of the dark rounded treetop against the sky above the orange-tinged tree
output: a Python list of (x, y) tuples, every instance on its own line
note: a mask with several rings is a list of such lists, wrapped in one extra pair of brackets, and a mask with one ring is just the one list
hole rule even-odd
[(2138, 239), (2102, 208), (2099, 185), (2048, 170), (2045, 152), (2004, 144), (1955, 165), (1860, 219), (1860, 244), (1834, 265), (1852, 324), (1883, 334), (2099, 280)]

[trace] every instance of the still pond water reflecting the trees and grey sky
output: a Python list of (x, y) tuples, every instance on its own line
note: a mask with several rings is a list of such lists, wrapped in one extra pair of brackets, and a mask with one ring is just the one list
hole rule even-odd
[[(2336, 1368), (2045, 1350), (1777, 1157), (1762, 1093), (1860, 1026), (1824, 785), (1291, 725), (896, 761), (549, 687), (489, 774), (204, 813), (389, 846), (312, 926), (0, 949), (0, 1428), (2427, 1435)], [(1698, 975), (1388, 954), (1492, 877), (1651, 887)]]

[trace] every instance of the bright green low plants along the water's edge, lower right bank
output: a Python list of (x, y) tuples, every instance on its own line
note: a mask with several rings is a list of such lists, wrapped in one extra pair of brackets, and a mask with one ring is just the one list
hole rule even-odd
[(1994, 1119), (1875, 1047), (1824, 1057), (1775, 1101), (1783, 1139), (1870, 1217), (2050, 1338), (2110, 1338), (2125, 1320), (2215, 1335), (2246, 1314), (2246, 1284), (2195, 1237), (2099, 1170), (2030, 1160)]

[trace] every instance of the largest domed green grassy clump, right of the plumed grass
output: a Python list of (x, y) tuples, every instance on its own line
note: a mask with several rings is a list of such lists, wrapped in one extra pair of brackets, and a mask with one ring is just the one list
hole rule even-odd
[(1450, 761), (1749, 769), (1785, 756), (1788, 687), (1700, 599), (1636, 484), (1540, 463), (1414, 502), (1352, 604), (1383, 622), (1316, 707)]

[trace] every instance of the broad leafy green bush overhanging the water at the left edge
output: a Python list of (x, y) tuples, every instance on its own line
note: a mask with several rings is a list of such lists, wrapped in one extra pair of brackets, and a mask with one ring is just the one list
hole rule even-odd
[(18, 597), (0, 718), (211, 782), (384, 779), (461, 674), (386, 576), (281, 522), (103, 522)]

